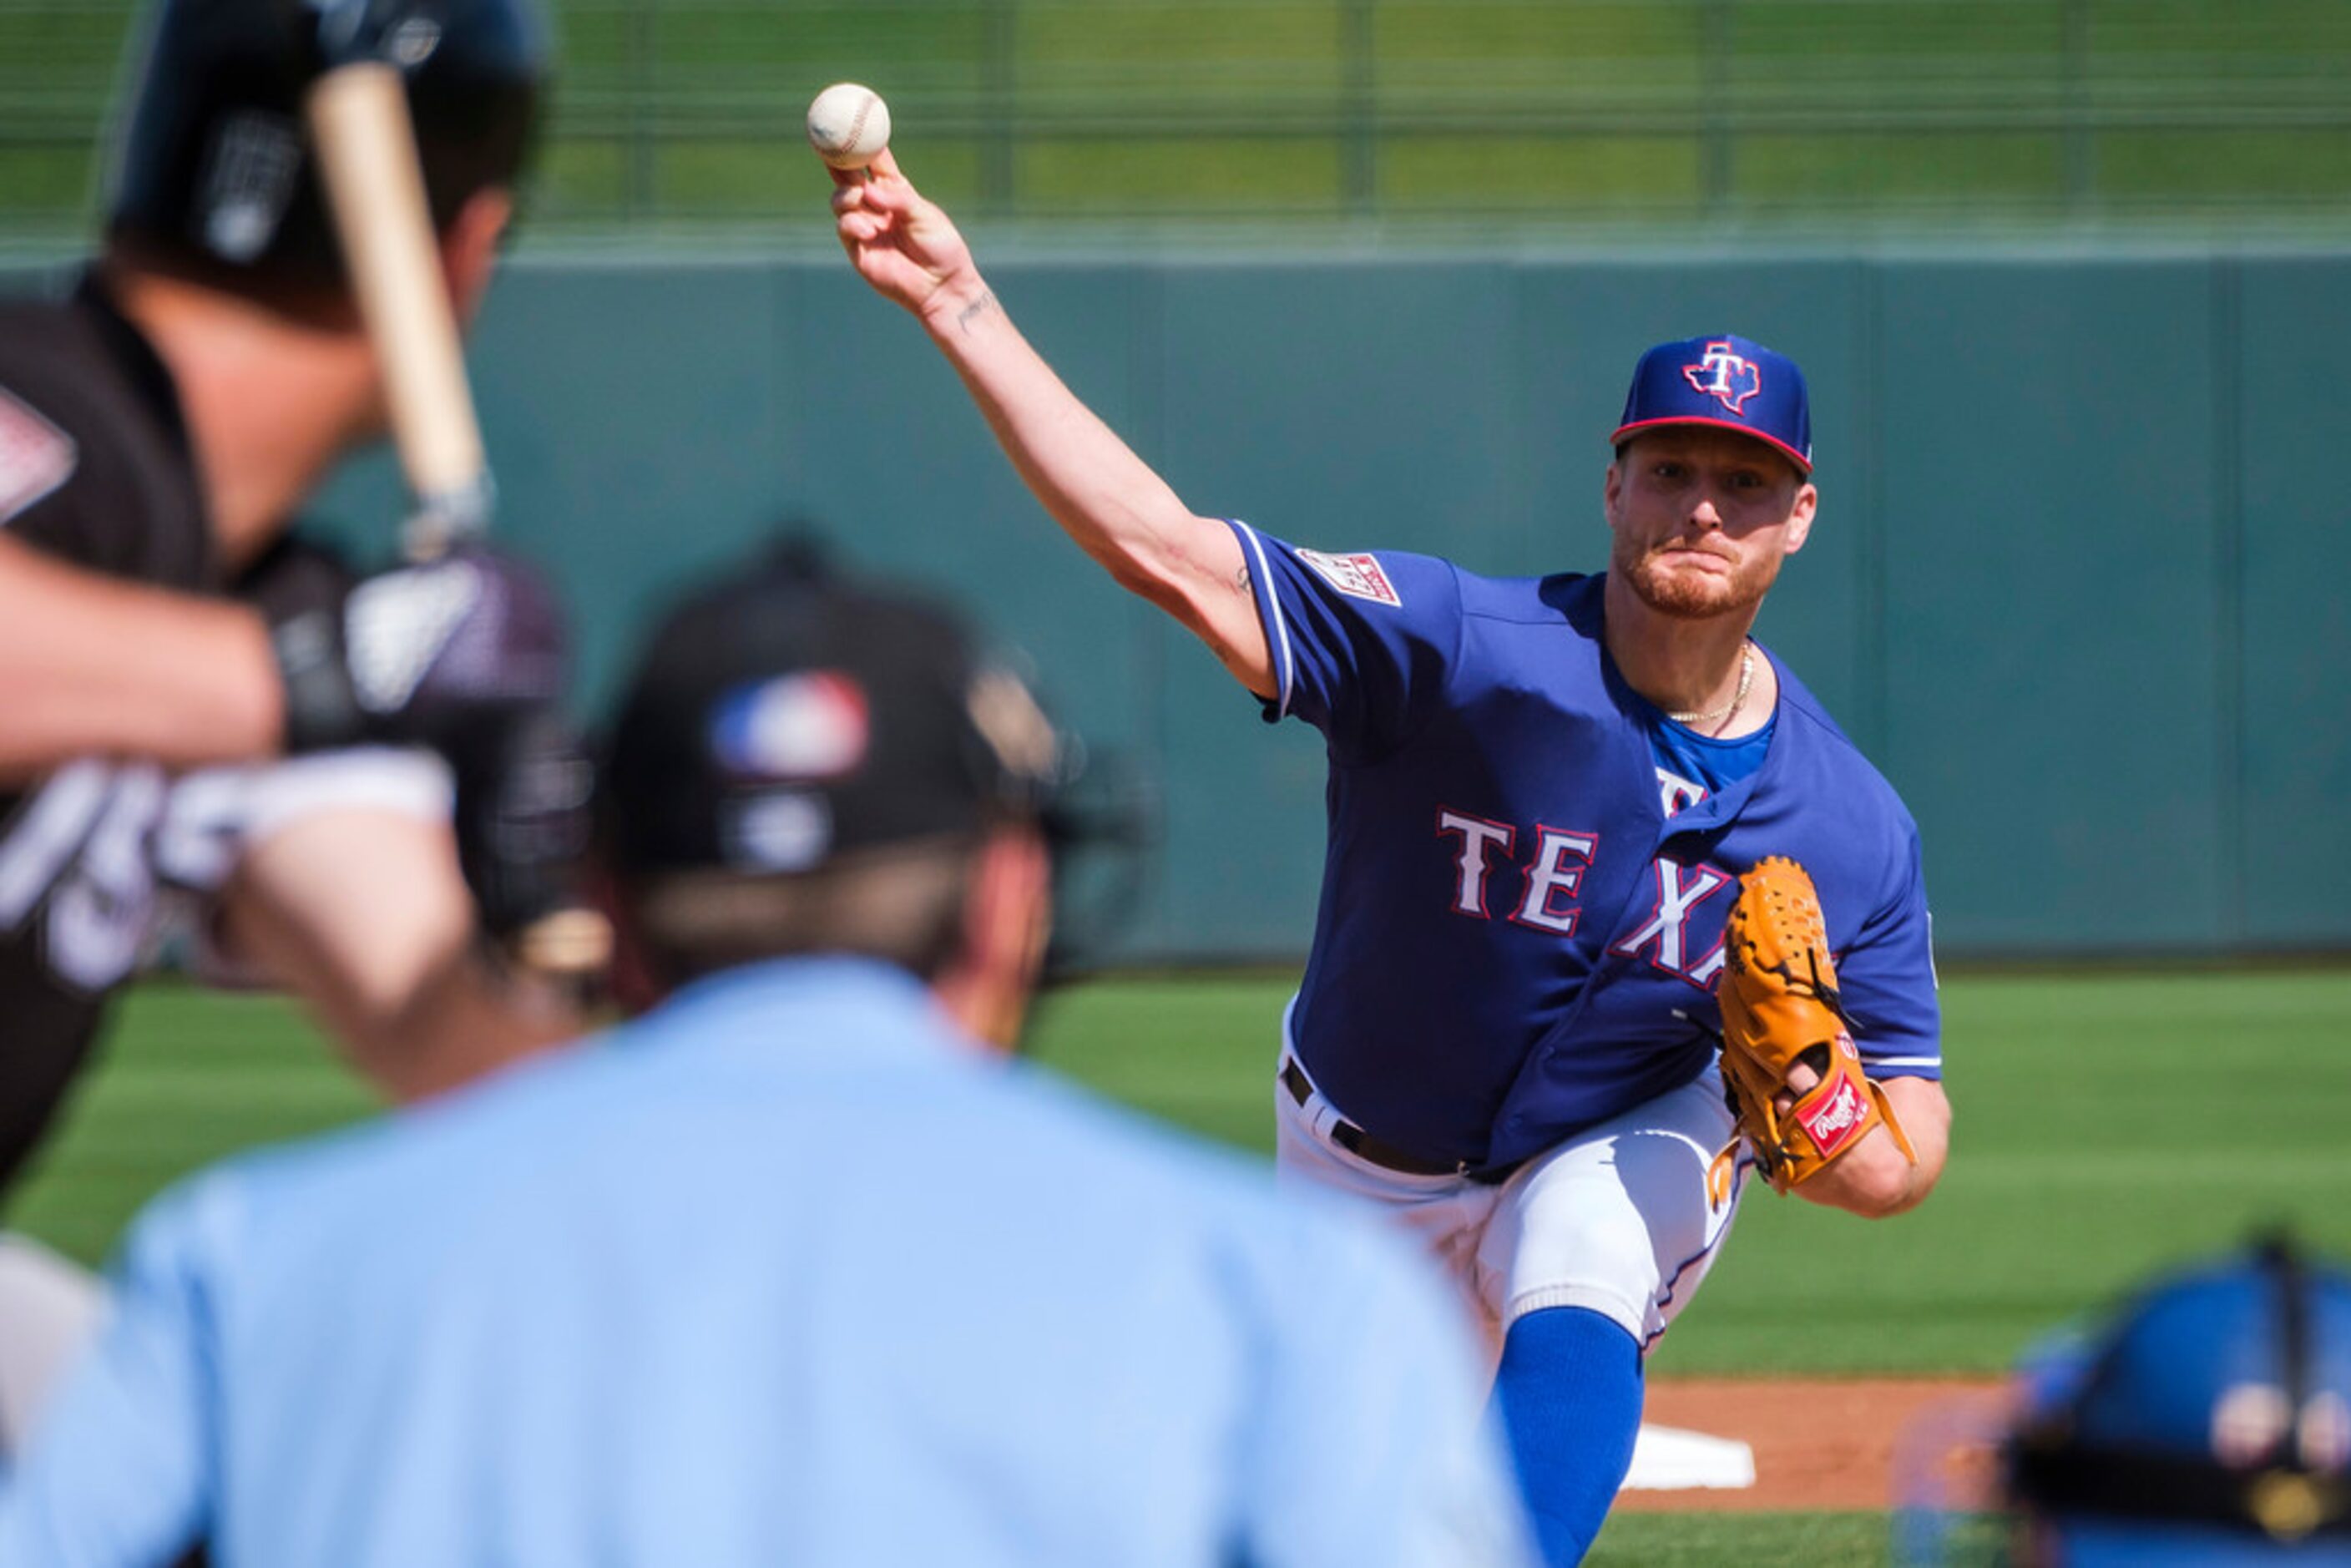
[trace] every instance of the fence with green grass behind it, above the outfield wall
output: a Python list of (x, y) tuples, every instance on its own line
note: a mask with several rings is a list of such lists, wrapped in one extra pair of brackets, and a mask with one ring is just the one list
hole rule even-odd
[[(957, 212), (1502, 230), (2351, 230), (2346, 0), (571, 0), (534, 221), (806, 223), (891, 101)], [(94, 205), (129, 7), (0, 0), (0, 233)]]

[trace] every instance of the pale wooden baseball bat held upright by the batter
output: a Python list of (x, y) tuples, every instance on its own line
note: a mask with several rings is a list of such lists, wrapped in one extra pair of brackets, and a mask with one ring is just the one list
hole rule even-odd
[[(360, 320), (383, 367), (393, 444), (416, 503), (400, 543), (409, 559), (428, 562), (489, 527), (496, 491), (442, 277), (407, 87), (395, 66), (362, 59), (322, 73), (306, 108)], [(555, 910), (515, 938), (515, 957), (548, 976), (592, 973), (609, 952), (611, 924), (595, 910)]]

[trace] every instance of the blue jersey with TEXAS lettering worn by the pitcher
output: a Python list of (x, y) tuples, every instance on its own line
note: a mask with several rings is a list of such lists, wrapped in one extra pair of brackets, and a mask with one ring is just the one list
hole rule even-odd
[(1265, 715), (1331, 755), (1288, 1027), (1352, 1121), (1500, 1171), (1690, 1081), (1714, 1056), (1723, 917), (1763, 856), (1820, 889), (1869, 1072), (1942, 1074), (1918, 830), (1784, 665), (1763, 764), (1669, 816), (1660, 715), (1601, 646), (1603, 578), (1234, 531)]

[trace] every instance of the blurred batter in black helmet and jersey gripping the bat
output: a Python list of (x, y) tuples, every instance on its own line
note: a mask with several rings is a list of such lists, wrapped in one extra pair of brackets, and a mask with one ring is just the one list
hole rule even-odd
[[(527, 0), (162, 0), (99, 259), (61, 303), (0, 303), (0, 1187), (174, 889), (395, 1095), (569, 1027), (477, 964), (451, 769), (400, 750), (447, 755), (484, 914), (529, 919), (501, 823), (550, 776), (552, 602), (480, 552), (362, 585), (287, 538), (383, 418), (301, 132), (329, 12), (397, 40), (470, 315), (545, 71)], [(0, 1455), (89, 1305), (0, 1246)]]

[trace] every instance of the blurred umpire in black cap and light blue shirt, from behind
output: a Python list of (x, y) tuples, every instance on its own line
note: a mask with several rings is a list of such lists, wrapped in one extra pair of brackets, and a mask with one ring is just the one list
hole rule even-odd
[(682, 604), (600, 802), (649, 1011), (150, 1208), (0, 1561), (1523, 1563), (1404, 1244), (1006, 1060), (1060, 755), (802, 550)]

